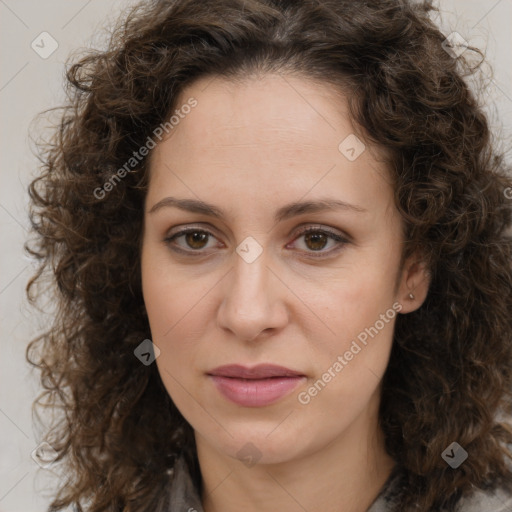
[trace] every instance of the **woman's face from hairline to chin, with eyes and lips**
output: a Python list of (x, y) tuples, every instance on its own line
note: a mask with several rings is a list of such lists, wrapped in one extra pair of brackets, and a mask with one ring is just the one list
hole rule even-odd
[(203, 79), (176, 109), (142, 247), (169, 395), (203, 443), (262, 463), (376, 430), (396, 316), (419, 305), (382, 155), (342, 97), (296, 77)]

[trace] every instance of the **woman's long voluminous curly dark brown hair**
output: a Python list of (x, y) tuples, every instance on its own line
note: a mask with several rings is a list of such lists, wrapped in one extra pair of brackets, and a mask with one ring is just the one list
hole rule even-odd
[[(29, 298), (47, 297), (36, 286), (46, 280), (56, 301), (53, 324), (27, 348), (44, 388), (34, 409), (62, 411), (45, 438), (66, 476), (52, 510), (166, 510), (176, 456), (194, 458), (192, 428), (156, 365), (134, 357), (151, 337), (140, 272), (147, 159), (120, 169), (187, 85), (258, 72), (348, 91), (361, 132), (392, 155), (404, 257), (419, 250), (429, 268), (423, 306), (397, 318), (383, 380), (380, 422), (407, 489), (397, 510), (455, 510), (475, 488), (512, 480), (512, 181), (465, 80), (478, 68), (468, 57), (481, 53), (445, 51), (433, 10), (406, 0), (146, 1), (108, 49), (68, 68), (68, 103), (29, 187), (27, 242), (40, 261)], [(456, 471), (440, 456), (454, 440), (473, 455)]]

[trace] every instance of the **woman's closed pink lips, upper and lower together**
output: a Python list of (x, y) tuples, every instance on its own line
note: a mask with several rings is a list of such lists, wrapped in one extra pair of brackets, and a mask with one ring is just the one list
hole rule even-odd
[(208, 375), (224, 397), (243, 407), (263, 407), (274, 403), (305, 379), (305, 375), (299, 372), (268, 364), (253, 368), (220, 366)]

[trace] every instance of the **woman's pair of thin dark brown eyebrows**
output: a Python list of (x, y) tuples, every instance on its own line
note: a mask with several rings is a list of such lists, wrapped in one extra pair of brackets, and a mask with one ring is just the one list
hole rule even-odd
[[(223, 210), (213, 204), (197, 199), (178, 199), (176, 197), (165, 197), (161, 201), (158, 201), (158, 203), (154, 204), (148, 213), (154, 213), (165, 207), (179, 208), (180, 210), (200, 213), (217, 219), (223, 219), (226, 217)], [(316, 213), (325, 210), (346, 210), (357, 213), (364, 213), (368, 211), (365, 208), (340, 201), (339, 199), (325, 198), (315, 201), (299, 201), (286, 204), (276, 211), (274, 220), (276, 222), (281, 222), (297, 215)]]

